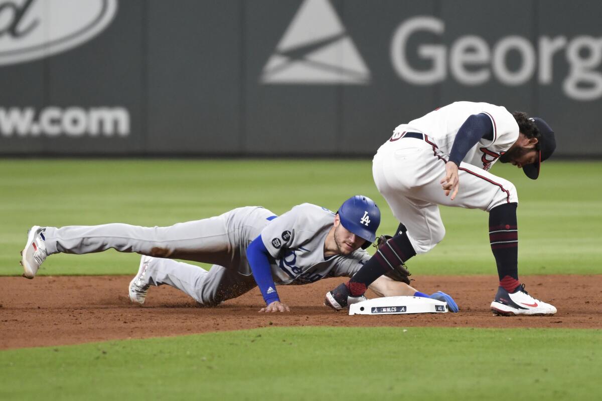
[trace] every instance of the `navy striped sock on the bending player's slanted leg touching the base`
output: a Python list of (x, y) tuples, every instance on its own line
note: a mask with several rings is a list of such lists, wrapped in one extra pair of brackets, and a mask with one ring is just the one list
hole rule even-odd
[(353, 275), (346, 284), (349, 292), (352, 296), (362, 295), (374, 280), (393, 270), (393, 266), (403, 264), (415, 254), (406, 233), (394, 236), (385, 245), (380, 246), (370, 260)]

